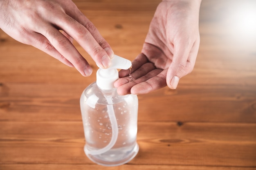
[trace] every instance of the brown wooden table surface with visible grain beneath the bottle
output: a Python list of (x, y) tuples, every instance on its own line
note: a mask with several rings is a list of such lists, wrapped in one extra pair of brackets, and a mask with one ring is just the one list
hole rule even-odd
[[(133, 60), (160, 0), (74, 2), (116, 54)], [(247, 26), (256, 16), (240, 18), (251, 7), (254, 0), (202, 1), (195, 68), (177, 90), (138, 96), (140, 150), (119, 167), (83, 151), (79, 98), (97, 70), (88, 54), (74, 42), (94, 67), (83, 77), (0, 31), (0, 170), (256, 169), (256, 29)]]

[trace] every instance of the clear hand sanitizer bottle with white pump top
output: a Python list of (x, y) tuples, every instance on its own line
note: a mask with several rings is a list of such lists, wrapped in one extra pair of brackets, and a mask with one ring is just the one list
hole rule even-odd
[(129, 60), (115, 55), (110, 68), (99, 68), (97, 81), (85, 88), (81, 95), (84, 151), (99, 165), (122, 165), (139, 151), (136, 141), (138, 98), (136, 95), (118, 95), (114, 87), (119, 78), (117, 69), (131, 66)]

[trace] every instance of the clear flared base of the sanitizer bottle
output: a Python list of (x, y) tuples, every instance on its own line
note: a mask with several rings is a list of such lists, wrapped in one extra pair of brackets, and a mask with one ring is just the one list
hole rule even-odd
[(86, 156), (94, 163), (97, 163), (102, 166), (123, 165), (131, 161), (139, 152), (139, 145), (137, 143), (135, 144), (133, 149), (129, 151), (123, 150), (122, 152), (120, 152), (118, 151), (118, 149), (111, 149), (108, 152), (100, 155), (91, 155), (90, 153), (86, 152), (85, 147), (84, 147), (84, 151)]

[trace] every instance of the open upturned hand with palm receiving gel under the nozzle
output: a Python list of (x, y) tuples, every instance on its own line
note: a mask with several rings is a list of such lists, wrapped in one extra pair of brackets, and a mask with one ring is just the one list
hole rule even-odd
[(115, 82), (117, 92), (144, 94), (164, 86), (177, 88), (181, 77), (195, 65), (200, 44), (201, 0), (162, 1), (150, 23), (141, 54), (132, 61), (132, 77), (121, 70)]

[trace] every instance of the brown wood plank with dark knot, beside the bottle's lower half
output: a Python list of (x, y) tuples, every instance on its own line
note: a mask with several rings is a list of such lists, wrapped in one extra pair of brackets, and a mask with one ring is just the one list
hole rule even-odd
[[(92, 164), (80, 121), (4, 121), (0, 132), (0, 164)], [(138, 143), (131, 164), (256, 167), (256, 124), (139, 122)]]

